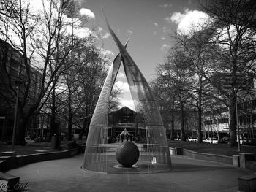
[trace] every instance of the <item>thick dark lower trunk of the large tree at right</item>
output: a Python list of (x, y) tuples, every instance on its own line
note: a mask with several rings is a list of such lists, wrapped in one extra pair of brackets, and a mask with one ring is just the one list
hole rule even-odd
[(235, 91), (230, 95), (230, 146), (236, 146), (236, 99)]

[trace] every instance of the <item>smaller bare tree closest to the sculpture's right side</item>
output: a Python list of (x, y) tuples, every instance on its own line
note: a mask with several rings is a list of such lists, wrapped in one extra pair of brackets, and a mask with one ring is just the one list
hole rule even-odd
[[(166, 62), (158, 66), (157, 81), (159, 88), (169, 97), (170, 106), (174, 110), (176, 102), (181, 112), (181, 140), (186, 140), (185, 119), (187, 101), (189, 99), (189, 78), (191, 73), (187, 67), (187, 58), (184, 58), (177, 47), (173, 47), (167, 55)], [(173, 115), (172, 115), (173, 116)]]

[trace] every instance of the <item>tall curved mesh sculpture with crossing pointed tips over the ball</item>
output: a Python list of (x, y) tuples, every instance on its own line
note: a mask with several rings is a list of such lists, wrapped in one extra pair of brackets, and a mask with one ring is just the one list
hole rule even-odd
[(83, 169), (97, 172), (117, 172), (115, 170), (115, 166), (118, 164), (116, 155), (109, 151), (110, 146), (107, 143), (108, 101), (122, 61), (132, 100), (134, 101), (135, 111), (143, 117), (146, 125), (146, 141), (136, 144), (139, 146), (140, 158), (132, 171), (136, 173), (169, 171), (171, 169), (170, 152), (157, 101), (154, 100), (145, 77), (143, 77), (140, 69), (138, 69), (138, 66), (127, 52), (127, 43), (122, 45), (110, 28), (106, 17), (105, 21), (120, 53), (114, 58), (113, 64), (110, 66), (91, 119)]

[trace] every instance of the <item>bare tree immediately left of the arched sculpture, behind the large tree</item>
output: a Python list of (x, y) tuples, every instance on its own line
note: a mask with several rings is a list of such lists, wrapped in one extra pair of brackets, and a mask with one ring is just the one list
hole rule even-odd
[(71, 139), (72, 125), (83, 128), (83, 133), (86, 131), (80, 115), (91, 117), (95, 101), (98, 99), (99, 91), (105, 80), (108, 64), (108, 60), (94, 46), (84, 47), (81, 45), (80, 48), (76, 52), (79, 53), (78, 57), (71, 54), (66, 58), (65, 70), (61, 76), (66, 87), (63, 93), (65, 100), (62, 116), (67, 122), (69, 140)]

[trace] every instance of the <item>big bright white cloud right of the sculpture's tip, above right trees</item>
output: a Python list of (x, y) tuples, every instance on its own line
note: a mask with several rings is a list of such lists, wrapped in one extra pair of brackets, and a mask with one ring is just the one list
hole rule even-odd
[(208, 15), (205, 12), (186, 9), (184, 13), (173, 12), (173, 15), (165, 18), (165, 20), (176, 23), (179, 33), (189, 34), (192, 28), (199, 31), (201, 26), (206, 24), (207, 18)]

